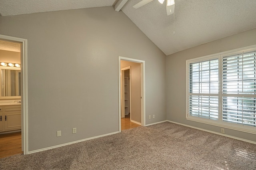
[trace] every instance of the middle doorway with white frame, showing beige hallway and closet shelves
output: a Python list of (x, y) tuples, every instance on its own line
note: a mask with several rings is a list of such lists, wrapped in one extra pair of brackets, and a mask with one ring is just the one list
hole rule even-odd
[(145, 126), (145, 61), (119, 57), (119, 131)]

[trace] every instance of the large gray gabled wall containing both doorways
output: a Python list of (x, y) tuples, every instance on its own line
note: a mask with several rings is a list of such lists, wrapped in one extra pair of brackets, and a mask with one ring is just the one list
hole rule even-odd
[(146, 61), (146, 124), (166, 120), (166, 56), (123, 12), (0, 16), (0, 34), (28, 40), (29, 151), (119, 130), (118, 56)]

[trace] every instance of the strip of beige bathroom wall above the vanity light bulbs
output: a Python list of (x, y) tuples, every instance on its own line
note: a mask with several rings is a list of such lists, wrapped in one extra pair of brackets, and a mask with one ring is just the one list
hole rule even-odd
[(20, 64), (20, 52), (6, 51), (0, 49), (0, 62)]

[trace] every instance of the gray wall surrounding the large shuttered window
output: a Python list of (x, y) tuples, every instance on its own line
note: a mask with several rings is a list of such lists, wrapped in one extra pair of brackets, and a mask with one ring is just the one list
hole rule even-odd
[[(167, 120), (220, 132), (220, 127), (186, 120), (186, 60), (256, 44), (256, 29), (167, 56)], [(256, 135), (225, 129), (225, 134), (256, 142)]]

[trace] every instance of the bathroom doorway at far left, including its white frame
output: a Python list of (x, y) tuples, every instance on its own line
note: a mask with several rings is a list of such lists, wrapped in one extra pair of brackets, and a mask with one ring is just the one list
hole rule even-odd
[(0, 35), (0, 43), (0, 54), (4, 54), (4, 57), (0, 57), (0, 103), (2, 121), (8, 122), (0, 123), (0, 140), (5, 142), (1, 146), (5, 147), (5, 156), (28, 154), (27, 40)]

